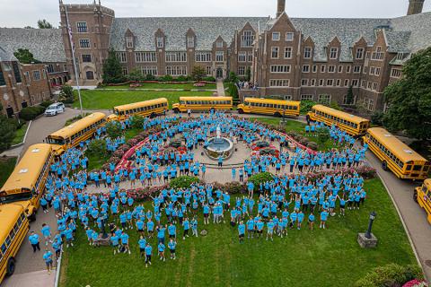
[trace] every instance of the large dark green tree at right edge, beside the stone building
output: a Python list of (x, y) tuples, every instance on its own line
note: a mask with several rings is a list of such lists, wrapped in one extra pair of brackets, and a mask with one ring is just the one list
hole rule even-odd
[(402, 67), (403, 77), (383, 92), (389, 106), (383, 124), (420, 140), (431, 138), (431, 48), (419, 51)]

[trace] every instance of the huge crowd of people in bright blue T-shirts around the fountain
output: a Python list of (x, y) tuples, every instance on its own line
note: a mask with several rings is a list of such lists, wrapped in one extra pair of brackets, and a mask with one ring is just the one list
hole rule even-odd
[[(162, 130), (149, 135), (149, 141), (136, 150), (128, 168), (116, 169), (111, 164), (109, 170), (88, 171), (84, 148), (89, 142), (67, 150), (50, 166), (46, 192), (40, 204), (44, 212), (53, 210), (56, 213), (57, 226), (44, 224), (41, 237), (33, 230), (29, 238), (34, 252), (40, 250), (43, 239), (46, 246), (43, 258), (48, 272), (53, 257), (58, 258), (62, 248), (74, 246), (76, 232), (85, 232), (88, 244), (96, 248), (106, 243), (101, 239), (106, 230), (114, 255), (131, 254), (136, 246), (140, 256), (145, 258), (145, 266), (149, 266), (153, 254), (165, 261), (166, 249), (175, 260), (177, 245), (180, 247), (180, 241), (189, 236), (198, 237), (199, 224), (223, 224), (229, 218), (240, 242), (246, 235), (249, 239), (273, 240), (274, 235), (286, 237), (288, 230), (294, 228), (301, 230), (306, 226), (314, 230), (315, 222), (316, 226), (326, 229), (331, 216), (344, 216), (346, 208), (359, 209), (365, 202), (364, 178), (356, 173), (344, 173), (342, 168), (360, 165), (366, 147), (354, 150), (351, 138), (334, 126), (330, 127), (330, 136), (349, 144), (339, 150), (309, 152), (299, 147), (294, 151), (283, 149), (288, 146), (284, 135), (244, 118), (215, 113), (179, 119), (176, 116), (145, 119), (143, 129), (161, 126)], [(231, 195), (229, 190), (221, 190), (210, 183), (178, 190), (165, 187), (154, 196), (151, 205), (136, 203), (119, 188), (123, 181), (136, 187), (136, 182), (141, 186), (162, 185), (180, 175), (205, 178), (207, 167), (195, 161), (194, 149), (207, 144), (217, 126), (224, 135), (248, 145), (265, 140), (280, 146), (278, 157), (254, 155), (244, 160), (243, 167), (233, 168), (233, 181), (247, 181), (253, 174), (269, 169), (275, 170), (274, 178), (258, 186), (248, 181), (248, 195), (243, 196)], [(97, 135), (101, 137), (103, 132)], [(166, 152), (164, 147), (178, 135), (182, 135), (188, 150)], [(105, 137), (105, 140), (112, 150), (124, 143), (122, 137), (114, 140)], [(306, 172), (320, 170), (335, 170), (335, 173), (316, 179), (305, 176)], [(91, 185), (96, 189), (103, 186), (109, 191), (90, 193), (87, 187)], [(137, 236), (131, 236), (132, 232), (137, 232)]]

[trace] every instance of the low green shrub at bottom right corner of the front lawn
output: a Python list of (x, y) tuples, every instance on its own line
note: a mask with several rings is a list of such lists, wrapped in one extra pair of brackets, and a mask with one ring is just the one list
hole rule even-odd
[(356, 287), (401, 286), (413, 279), (423, 279), (422, 270), (418, 265), (401, 266), (394, 263), (378, 266), (356, 281)]

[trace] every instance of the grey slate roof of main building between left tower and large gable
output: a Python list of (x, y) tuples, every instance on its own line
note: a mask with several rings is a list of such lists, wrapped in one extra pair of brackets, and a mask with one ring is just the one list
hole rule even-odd
[(241, 30), (250, 22), (258, 30), (258, 22), (263, 26), (268, 17), (154, 17), (115, 18), (110, 34), (110, 47), (117, 51), (126, 50), (125, 33), (129, 29), (136, 37), (136, 51), (154, 51), (154, 33), (160, 29), (166, 36), (166, 50), (186, 49), (186, 33), (191, 28), (196, 34), (196, 50), (211, 50), (221, 36), (229, 45), (234, 30)]

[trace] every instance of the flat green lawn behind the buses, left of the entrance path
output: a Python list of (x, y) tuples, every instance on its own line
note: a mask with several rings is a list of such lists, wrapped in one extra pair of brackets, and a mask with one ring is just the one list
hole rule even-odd
[[(178, 102), (180, 97), (212, 95), (213, 91), (81, 91), (84, 109), (112, 109), (115, 106), (156, 98), (168, 99), (171, 108), (172, 103)], [(74, 107), (79, 108), (79, 100), (75, 100)]]

